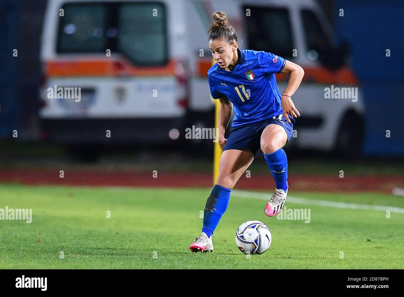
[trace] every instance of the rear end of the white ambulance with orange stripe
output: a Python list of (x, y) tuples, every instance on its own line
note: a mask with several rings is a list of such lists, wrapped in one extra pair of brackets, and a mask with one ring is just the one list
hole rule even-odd
[(78, 152), (179, 139), (189, 81), (174, 21), (181, 11), (173, 8), (167, 1), (48, 2), (41, 43), (45, 139)]

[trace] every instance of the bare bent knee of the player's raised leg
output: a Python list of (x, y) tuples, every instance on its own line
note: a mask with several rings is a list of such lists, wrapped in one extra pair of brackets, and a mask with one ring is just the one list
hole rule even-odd
[(271, 154), (284, 147), (287, 140), (288, 135), (282, 126), (269, 124), (261, 134), (261, 150), (264, 154)]

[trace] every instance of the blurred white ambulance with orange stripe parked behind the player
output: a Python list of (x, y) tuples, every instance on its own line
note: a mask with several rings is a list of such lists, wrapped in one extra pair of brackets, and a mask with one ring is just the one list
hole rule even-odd
[[(240, 49), (268, 51), (305, 70), (293, 96), (301, 117), (289, 147), (360, 149), (363, 103), (347, 46), (333, 44), (326, 17), (310, 0), (49, 1), (41, 49), (44, 138), (88, 149), (180, 141), (186, 127), (213, 127), (206, 31), (214, 11), (227, 13)], [(277, 79), (282, 91), (286, 77)], [(79, 88), (80, 100), (64, 96), (71, 88)]]

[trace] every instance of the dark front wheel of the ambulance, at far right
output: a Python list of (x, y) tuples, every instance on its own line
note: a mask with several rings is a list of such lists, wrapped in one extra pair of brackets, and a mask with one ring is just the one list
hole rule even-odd
[(337, 133), (335, 154), (344, 158), (360, 156), (364, 133), (364, 122), (360, 114), (350, 111), (341, 121)]

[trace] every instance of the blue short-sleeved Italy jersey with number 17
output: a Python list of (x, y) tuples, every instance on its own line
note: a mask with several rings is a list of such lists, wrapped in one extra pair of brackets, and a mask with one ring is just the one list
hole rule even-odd
[(233, 71), (215, 63), (208, 70), (210, 94), (227, 97), (234, 106), (233, 128), (282, 114), (281, 96), (275, 74), (282, 72), (285, 59), (264, 51), (238, 51)]

